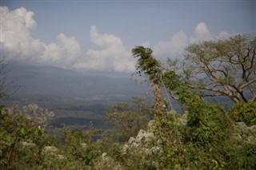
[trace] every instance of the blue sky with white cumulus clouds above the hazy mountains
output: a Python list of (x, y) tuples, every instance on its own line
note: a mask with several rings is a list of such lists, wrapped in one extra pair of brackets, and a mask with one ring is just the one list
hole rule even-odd
[(131, 49), (182, 57), (191, 43), (256, 34), (256, 1), (1, 0), (1, 58), (134, 72)]

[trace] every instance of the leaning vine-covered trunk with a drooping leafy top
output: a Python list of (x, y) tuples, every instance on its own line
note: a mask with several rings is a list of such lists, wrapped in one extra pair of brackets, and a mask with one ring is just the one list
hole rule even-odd
[[(174, 107), (170, 101), (169, 92), (165, 83), (166, 69), (162, 66), (161, 62), (153, 56), (153, 50), (145, 48), (143, 46), (136, 46), (132, 49), (134, 57), (138, 57), (137, 70), (138, 73), (144, 73), (153, 84), (152, 91), (154, 92), (154, 120), (156, 121), (156, 136), (159, 140), (162, 140), (163, 145), (182, 145), (180, 132), (178, 131), (177, 113), (174, 111)], [(172, 75), (173, 76), (173, 75)], [(172, 78), (172, 77), (170, 77)], [(177, 77), (178, 79), (178, 77)], [(175, 79), (176, 80), (176, 79)], [(174, 81), (174, 80), (172, 80)], [(168, 109), (168, 101), (162, 95), (162, 89), (166, 92), (168, 97), (170, 110)], [(169, 131), (171, 129), (171, 131)], [(173, 142), (173, 139), (178, 139), (177, 142)], [(173, 156), (176, 153), (166, 151), (166, 155)], [(178, 154), (178, 153), (177, 153)]]

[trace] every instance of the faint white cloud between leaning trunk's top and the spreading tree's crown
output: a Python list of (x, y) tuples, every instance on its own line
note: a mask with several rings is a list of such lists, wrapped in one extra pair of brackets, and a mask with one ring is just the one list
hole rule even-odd
[(225, 31), (222, 31), (218, 35), (214, 35), (210, 32), (206, 24), (201, 22), (195, 27), (193, 36), (188, 36), (181, 30), (174, 34), (174, 36), (170, 38), (170, 41), (158, 42), (157, 45), (153, 46), (153, 49), (156, 55), (177, 57), (182, 54), (183, 49), (190, 43), (227, 38), (230, 36), (231, 34), (228, 34)]

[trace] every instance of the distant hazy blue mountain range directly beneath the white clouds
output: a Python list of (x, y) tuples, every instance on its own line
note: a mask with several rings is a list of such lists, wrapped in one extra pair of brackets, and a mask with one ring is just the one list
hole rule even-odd
[(88, 100), (126, 99), (143, 96), (149, 87), (135, 84), (131, 74), (79, 73), (52, 66), (10, 64), (8, 79), (20, 86), (14, 96), (58, 96)]

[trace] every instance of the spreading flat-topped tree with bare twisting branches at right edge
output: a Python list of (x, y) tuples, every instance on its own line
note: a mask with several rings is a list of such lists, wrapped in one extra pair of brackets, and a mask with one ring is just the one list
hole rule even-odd
[(232, 101), (256, 101), (256, 37), (191, 44), (185, 49), (183, 77), (203, 97), (226, 96)]

